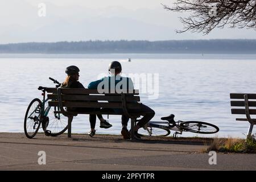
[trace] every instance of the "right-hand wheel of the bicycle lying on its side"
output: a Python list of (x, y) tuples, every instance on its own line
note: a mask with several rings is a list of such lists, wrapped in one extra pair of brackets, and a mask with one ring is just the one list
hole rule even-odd
[(211, 123), (201, 121), (185, 121), (180, 123), (180, 126), (184, 131), (200, 134), (213, 134), (220, 130), (217, 126), (212, 125)]

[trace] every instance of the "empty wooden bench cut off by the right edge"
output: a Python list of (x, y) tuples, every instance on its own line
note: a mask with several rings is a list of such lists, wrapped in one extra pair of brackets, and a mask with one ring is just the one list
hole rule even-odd
[[(251, 115), (256, 114), (256, 108), (251, 109), (250, 107), (256, 107), (256, 94), (251, 93), (230, 93), (230, 105), (232, 107), (232, 114), (245, 114), (246, 118), (237, 118), (237, 121), (248, 121), (250, 127), (247, 132), (247, 136), (251, 135), (253, 131), (253, 125), (256, 125), (256, 119), (251, 118)], [(243, 108), (242, 108), (243, 107)]]

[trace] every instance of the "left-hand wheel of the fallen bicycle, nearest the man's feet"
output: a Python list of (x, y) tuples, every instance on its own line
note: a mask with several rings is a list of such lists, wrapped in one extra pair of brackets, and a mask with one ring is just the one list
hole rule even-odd
[(142, 137), (155, 136), (166, 137), (170, 135), (170, 130), (160, 128), (161, 125), (141, 127), (138, 130), (138, 134)]

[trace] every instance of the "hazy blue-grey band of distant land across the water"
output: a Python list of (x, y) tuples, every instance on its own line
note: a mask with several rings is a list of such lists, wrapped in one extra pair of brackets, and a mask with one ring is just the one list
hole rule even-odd
[(256, 53), (256, 39), (12, 43), (0, 53)]

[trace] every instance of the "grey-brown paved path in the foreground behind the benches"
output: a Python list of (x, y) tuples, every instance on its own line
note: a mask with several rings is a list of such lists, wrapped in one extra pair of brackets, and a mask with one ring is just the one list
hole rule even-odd
[[(256, 154), (217, 154), (217, 165), (202, 152), (199, 139), (123, 140), (118, 135), (72, 135), (67, 138), (37, 134), (0, 133), (0, 170), (255, 170)], [(46, 165), (39, 165), (39, 151)]]

